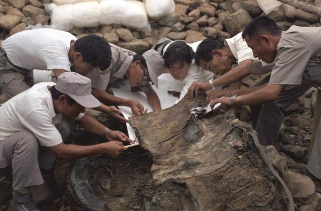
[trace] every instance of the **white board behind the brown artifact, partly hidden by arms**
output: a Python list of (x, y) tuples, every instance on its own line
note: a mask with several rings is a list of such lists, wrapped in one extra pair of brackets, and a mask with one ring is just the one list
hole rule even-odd
[[(158, 95), (159, 100), (161, 101), (162, 109), (167, 109), (172, 107), (175, 104), (175, 101), (178, 97), (174, 97), (169, 94), (167, 91), (179, 91), (183, 89), (184, 84), (176, 81), (170, 73), (162, 74), (158, 77), (158, 89), (152, 85), (152, 88)], [(145, 109), (148, 109), (147, 113), (152, 112), (152, 109), (147, 101), (147, 97), (143, 92), (132, 92), (130, 91), (130, 85), (128, 80), (126, 80), (125, 85), (121, 85), (119, 88), (112, 88), (114, 95), (117, 97), (125, 98), (125, 99), (134, 99), (140, 102)], [(124, 117), (128, 119), (128, 117), (134, 116), (131, 113), (131, 109), (129, 107), (119, 106), (118, 107)], [(134, 129), (126, 123), (128, 130), (128, 137), (132, 140), (137, 140)]]

